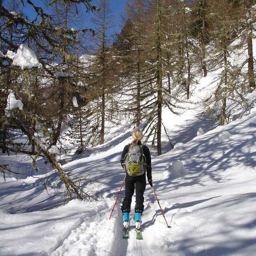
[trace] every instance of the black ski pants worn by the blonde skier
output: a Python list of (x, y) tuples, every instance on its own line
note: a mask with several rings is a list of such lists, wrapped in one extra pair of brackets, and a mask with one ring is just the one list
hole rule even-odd
[(144, 191), (146, 189), (146, 173), (140, 175), (140, 176), (130, 176), (126, 175), (125, 178), (125, 197), (123, 200), (122, 210), (128, 210), (131, 209), (131, 203), (132, 203), (132, 196), (134, 194), (134, 188), (136, 192), (136, 204), (135, 209), (141, 210), (143, 212), (144, 210)]

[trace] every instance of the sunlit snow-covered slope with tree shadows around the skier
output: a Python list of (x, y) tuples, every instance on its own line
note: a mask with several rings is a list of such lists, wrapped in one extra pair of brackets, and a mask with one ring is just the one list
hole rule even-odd
[[(229, 104), (233, 121), (212, 130), (192, 108), (183, 116), (164, 117), (170, 136), (180, 143), (162, 156), (152, 154), (152, 176), (172, 228), (166, 227), (149, 185), (142, 218), (144, 240), (136, 240), (133, 230), (129, 240), (122, 239), (124, 190), (108, 219), (124, 179), (119, 160), (131, 141), (129, 131), (63, 165), (72, 174), (97, 179), (89, 188), (97, 202), (72, 200), (63, 206), (59, 193), (64, 188), (51, 173), (48, 193), (39, 179), (43, 174), (1, 183), (0, 255), (254, 255), (256, 92), (246, 97), (247, 108)], [(196, 135), (199, 127), (205, 134)]]

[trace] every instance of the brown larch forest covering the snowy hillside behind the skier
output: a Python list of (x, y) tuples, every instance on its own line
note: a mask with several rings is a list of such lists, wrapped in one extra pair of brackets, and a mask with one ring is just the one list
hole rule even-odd
[[(162, 110), (182, 114), (180, 103), (209, 73), (216, 74), (214, 88), (199, 118), (225, 126), (234, 114), (228, 101), (249, 104), (255, 0), (130, 0), (114, 34), (109, 0), (40, 2), (0, 0), (0, 148), (30, 156), (34, 170), (44, 159), (68, 198), (92, 196), (86, 176), (68, 175), (60, 154), (102, 145), (106, 130), (125, 122), (162, 155)], [(83, 16), (91, 27), (77, 25)], [(17, 172), (0, 165), (4, 178)]]

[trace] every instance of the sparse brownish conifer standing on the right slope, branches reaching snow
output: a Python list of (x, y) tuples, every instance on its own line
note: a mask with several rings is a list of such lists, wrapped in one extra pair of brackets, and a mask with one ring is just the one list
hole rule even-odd
[(214, 95), (206, 100), (216, 112), (215, 120), (219, 120), (221, 125), (227, 124), (229, 115), (226, 113), (227, 100), (236, 100), (246, 103), (237, 84), (240, 76), (238, 66), (232, 62), (232, 55), (240, 48), (236, 44), (240, 21), (238, 9), (233, 6), (234, 1), (225, 0), (222, 2), (212, 2), (212, 49), (211, 64), (214, 70), (220, 70), (218, 85)]

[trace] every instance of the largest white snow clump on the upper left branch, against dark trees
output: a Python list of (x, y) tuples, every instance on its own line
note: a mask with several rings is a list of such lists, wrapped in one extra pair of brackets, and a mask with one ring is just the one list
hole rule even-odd
[(12, 65), (20, 66), (22, 70), (40, 66), (36, 54), (26, 44), (21, 44), (17, 53), (8, 50), (6, 57), (13, 59)]

